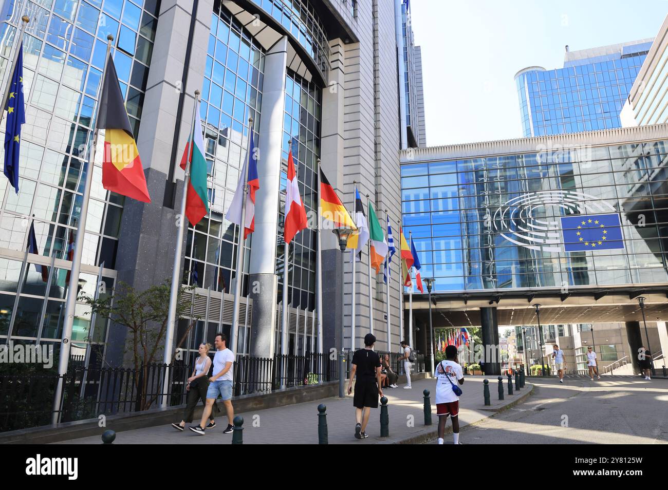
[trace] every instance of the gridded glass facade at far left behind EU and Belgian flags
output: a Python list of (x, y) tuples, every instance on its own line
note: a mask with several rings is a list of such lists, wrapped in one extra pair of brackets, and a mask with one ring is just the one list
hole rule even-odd
[[(75, 239), (106, 37), (114, 35), (114, 63), (137, 136), (159, 9), (158, 0), (5, 2), (7, 23), (0, 25), (3, 77), (10, 74), (6, 67), (21, 15), (30, 15), (31, 22), (23, 39), (26, 123), (21, 134), (19, 194), (9, 188), (6, 179), (0, 183), (0, 338), (7, 335), (16, 304), (12, 338), (59, 343), (69, 266), (56, 265), (51, 270), (49, 264), (51, 257), (68, 260), (68, 246)], [(89, 266), (104, 262), (105, 268), (114, 269), (124, 198), (102, 188), (101, 167), (92, 171), (82, 262)], [(43, 276), (30, 264), (23, 278), (19, 277), (21, 253), (33, 214), (37, 248), (46, 257), (37, 262), (46, 264), (49, 274)], [(114, 276), (104, 280), (107, 290), (112, 290)], [(93, 296), (96, 283), (96, 274), (82, 273), (80, 294)], [(16, 302), (19, 288), (21, 296)], [(82, 352), (77, 348), (86, 344), (89, 332), (90, 310), (79, 304), (73, 354)], [(93, 340), (105, 339), (106, 324), (100, 320)]]

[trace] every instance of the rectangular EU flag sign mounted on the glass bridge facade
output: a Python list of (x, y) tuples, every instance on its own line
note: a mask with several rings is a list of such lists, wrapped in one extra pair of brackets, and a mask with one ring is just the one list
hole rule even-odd
[(624, 248), (619, 214), (578, 214), (562, 216), (564, 250), (611, 250)]

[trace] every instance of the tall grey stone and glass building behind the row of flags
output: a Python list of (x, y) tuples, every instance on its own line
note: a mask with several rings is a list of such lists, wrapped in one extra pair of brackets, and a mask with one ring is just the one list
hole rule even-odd
[[(399, 150), (424, 141), (420, 49), (413, 45), (408, 1), (3, 0), (3, 83), (23, 15), (30, 18), (23, 37), (27, 121), (20, 192), (15, 194), (7, 180), (0, 184), (0, 342), (11, 338), (59, 346), (68, 251), (87, 172), (94, 175), (79, 295), (94, 295), (100, 271), (106, 294), (120, 282), (144, 290), (171, 277), (184, 178), (178, 162), (190, 132), (195, 90), (202, 93), (210, 214), (188, 228), (184, 242), (183, 280), (192, 284), (189, 272), (198, 271), (194, 313), (201, 318), (189, 348), (212, 341), (221, 328), (229, 331), (236, 280), (242, 280), (238, 351), (271, 357), (280, 348), (279, 302), (286, 287), (282, 213), (291, 145), (307, 213), (313, 214), (319, 202), (321, 162), (349, 209), (356, 182), (381, 210), (381, 221), (387, 214), (398, 226)], [(104, 190), (99, 162), (90, 168), (86, 160), (109, 34), (152, 198), (147, 204)], [(243, 270), (236, 271), (238, 228), (224, 212), (251, 132), (264, 163), (255, 233), (246, 240)], [(39, 253), (29, 254), (23, 278), (31, 219)], [(289, 352), (303, 354), (313, 352), (316, 334), (315, 230), (304, 230), (293, 243), (287, 260)], [(362, 260), (368, 260), (367, 252)], [(43, 278), (35, 265), (47, 266), (49, 276)], [(398, 260), (392, 267), (398, 277)], [(325, 348), (350, 342), (349, 330), (345, 340), (335, 336), (351, 314), (341, 289), (347, 305), (356, 303), (357, 332), (363, 336), (369, 329), (373, 308), (379, 341), (395, 347), (401, 336), (398, 281), (390, 291), (387, 339), (382, 276), (369, 281), (365, 268), (358, 267), (359, 285), (351, 298), (349, 271), (349, 258), (344, 262), (333, 234), (323, 233), (323, 276), (331, 278), (324, 281), (323, 297), (333, 312), (323, 318)], [(260, 284), (261, 294), (249, 282)], [(177, 338), (186, 323), (180, 321)], [(126, 328), (101, 318), (91, 325), (90, 308), (80, 302), (72, 353), (92, 344), (91, 362), (120, 365), (126, 334)]]

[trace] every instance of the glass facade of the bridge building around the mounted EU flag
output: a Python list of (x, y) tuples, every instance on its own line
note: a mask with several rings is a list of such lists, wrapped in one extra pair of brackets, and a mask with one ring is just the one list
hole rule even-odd
[[(657, 141), (402, 164), (404, 233), (436, 291), (666, 282), (667, 160)], [(565, 252), (560, 218), (598, 210), (623, 248)]]

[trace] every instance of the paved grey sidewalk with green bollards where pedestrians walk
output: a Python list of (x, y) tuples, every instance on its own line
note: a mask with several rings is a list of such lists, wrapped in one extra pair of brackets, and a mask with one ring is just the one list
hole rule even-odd
[[(526, 398), (532, 385), (526, 383), (524, 389), (514, 395), (508, 395), (508, 382), (504, 381), (504, 401), (498, 400), (498, 381), (490, 377), (491, 407), (484, 406), (482, 376), (467, 376), (462, 390), (464, 394), (460, 400), (460, 426), (465, 427), (491, 417), (499, 409), (516, 403), (520, 398)], [(320, 403), (327, 405), (327, 426), (330, 444), (387, 444), (422, 442), (433, 437), (438, 427), (436, 404), (434, 403), (434, 389), (436, 381), (426, 379), (415, 381), (413, 388), (405, 390), (385, 390), (383, 394), (389, 400), (389, 435), (380, 437), (380, 407), (371, 410), (369, 425), (367, 426), (368, 439), (361, 441), (353, 437), (355, 429), (355, 410), (352, 396), (341, 400), (337, 397), (327, 398), (314, 402), (287, 405), (275, 409), (260, 410), (257, 412), (240, 413), (244, 418), (244, 444), (317, 444), (318, 443), (318, 411)], [(424, 389), (431, 392), (432, 424), (424, 425)], [(200, 436), (188, 431), (180, 433), (170, 426), (148, 427), (134, 431), (117, 433), (114, 444), (230, 444), (231, 434), (223, 434), (226, 426), (226, 417), (216, 420), (218, 426), (210, 429), (206, 435)], [(448, 422), (448, 428), (450, 422)], [(111, 425), (100, 428), (100, 433), (106, 429), (114, 429)], [(449, 430), (449, 429), (446, 429)], [(446, 440), (448, 436), (446, 435)], [(83, 437), (63, 441), (61, 444), (100, 444), (100, 437)]]

